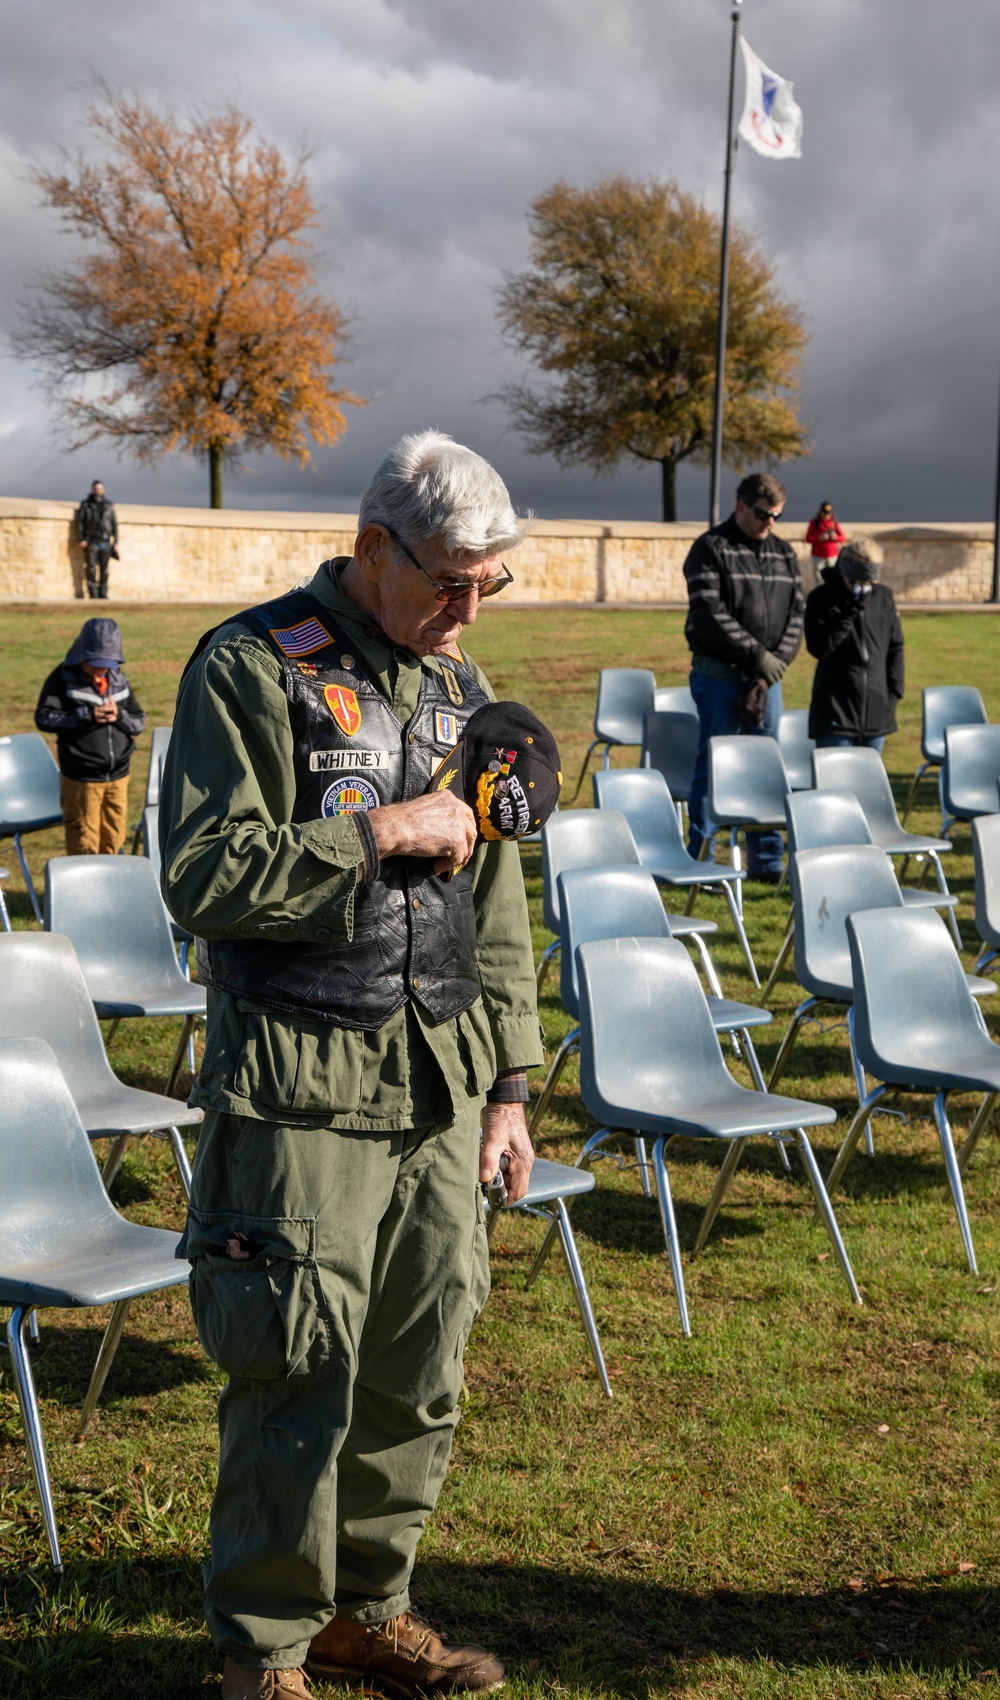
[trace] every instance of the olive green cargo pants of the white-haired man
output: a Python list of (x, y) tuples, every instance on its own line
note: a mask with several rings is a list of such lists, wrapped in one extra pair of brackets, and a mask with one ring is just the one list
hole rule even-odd
[(252, 1669), (408, 1605), (490, 1270), (480, 1117), (332, 1132), (207, 1112), (182, 1255), (230, 1375), (206, 1612)]

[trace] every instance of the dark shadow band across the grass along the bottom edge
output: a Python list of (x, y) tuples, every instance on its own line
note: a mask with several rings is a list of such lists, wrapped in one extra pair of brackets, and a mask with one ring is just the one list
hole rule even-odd
[[(199, 1595), (196, 1564), (83, 1562), (60, 1586), (41, 1567), (10, 1576), (3, 1692), (189, 1700), (221, 1664)], [(594, 1569), (430, 1562), (417, 1567), (413, 1598), (449, 1639), (495, 1649), (522, 1688), (549, 1693), (556, 1681), (622, 1700), (689, 1688), (692, 1666), (711, 1659), (765, 1661), (779, 1683), (808, 1669), (968, 1680), (993, 1663), (1000, 1632), (998, 1591), (947, 1578), (694, 1593)]]

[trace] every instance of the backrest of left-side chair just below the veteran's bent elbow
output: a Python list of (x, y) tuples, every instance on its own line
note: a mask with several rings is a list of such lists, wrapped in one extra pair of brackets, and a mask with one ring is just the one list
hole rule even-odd
[(129, 988), (177, 988), (170, 921), (145, 855), (70, 855), (46, 862), (44, 926), (66, 933), (95, 1003)]

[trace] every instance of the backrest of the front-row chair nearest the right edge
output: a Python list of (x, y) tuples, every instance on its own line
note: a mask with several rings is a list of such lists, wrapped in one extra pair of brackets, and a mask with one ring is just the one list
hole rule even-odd
[[(854, 1042), (876, 1080), (906, 1083), (935, 1062), (947, 1071), (969, 1035), (983, 1042), (959, 954), (934, 910), (871, 910), (847, 925)], [(959, 1061), (961, 1066), (961, 1061)]]

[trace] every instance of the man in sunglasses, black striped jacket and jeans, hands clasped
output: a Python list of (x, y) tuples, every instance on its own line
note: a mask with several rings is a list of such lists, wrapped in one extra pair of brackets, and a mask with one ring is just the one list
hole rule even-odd
[[(736, 512), (713, 525), (684, 563), (690, 646), (690, 692), (701, 738), (690, 785), (690, 853), (714, 831), (707, 814), (707, 741), (733, 733), (777, 736), (781, 678), (803, 641), (803, 580), (791, 544), (774, 536), (786, 490), (770, 473), (750, 473), (736, 490)], [(757, 690), (755, 690), (757, 687)], [(755, 692), (755, 719), (748, 694)], [(748, 872), (776, 886), (781, 833), (748, 835)]]

